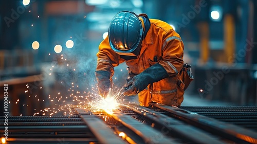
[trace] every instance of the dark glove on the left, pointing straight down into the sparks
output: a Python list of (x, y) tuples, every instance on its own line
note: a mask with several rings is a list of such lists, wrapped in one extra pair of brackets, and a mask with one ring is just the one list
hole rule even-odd
[(102, 97), (106, 97), (111, 87), (109, 71), (96, 71), (98, 92)]

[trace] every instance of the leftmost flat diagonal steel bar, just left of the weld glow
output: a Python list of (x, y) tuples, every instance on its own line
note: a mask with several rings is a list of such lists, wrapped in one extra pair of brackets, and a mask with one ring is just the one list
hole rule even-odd
[(76, 109), (76, 111), (99, 140), (99, 143), (125, 143), (120, 137), (114, 134), (114, 131), (108, 125), (103, 123), (97, 116), (91, 114), (90, 111), (85, 109)]

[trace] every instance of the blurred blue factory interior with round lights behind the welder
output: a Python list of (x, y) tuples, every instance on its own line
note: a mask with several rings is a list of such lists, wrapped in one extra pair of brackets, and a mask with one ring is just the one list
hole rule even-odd
[[(12, 114), (28, 115), (49, 106), (42, 99), (50, 95), (69, 96), (69, 87), (90, 89), (109, 22), (130, 10), (180, 34), (195, 79), (184, 105), (257, 105), (256, 6), (253, 0), (0, 1), (0, 92), (8, 83)], [(121, 64), (115, 84), (124, 85), (126, 75)]]

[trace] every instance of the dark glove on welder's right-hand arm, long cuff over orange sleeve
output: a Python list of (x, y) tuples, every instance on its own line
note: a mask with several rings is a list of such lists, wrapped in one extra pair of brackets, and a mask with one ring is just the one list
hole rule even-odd
[(143, 91), (148, 84), (160, 81), (168, 77), (166, 69), (164, 69), (159, 63), (146, 68), (142, 73), (133, 77), (124, 87), (126, 91), (123, 93), (127, 96), (136, 95)]

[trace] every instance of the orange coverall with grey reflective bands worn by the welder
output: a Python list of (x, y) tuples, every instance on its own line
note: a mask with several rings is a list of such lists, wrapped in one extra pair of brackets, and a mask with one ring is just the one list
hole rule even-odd
[[(147, 16), (140, 14), (139, 16)], [(149, 84), (138, 94), (139, 103), (149, 106), (149, 102), (180, 106), (183, 101), (183, 82), (177, 75), (183, 67), (184, 45), (179, 34), (166, 22), (149, 19), (151, 26), (142, 40), (140, 54), (137, 59), (124, 60), (109, 46), (108, 37), (99, 45), (96, 70), (105, 70), (114, 75), (114, 67), (126, 62), (128, 74), (138, 75), (146, 68), (157, 63), (166, 69), (169, 77)]]

